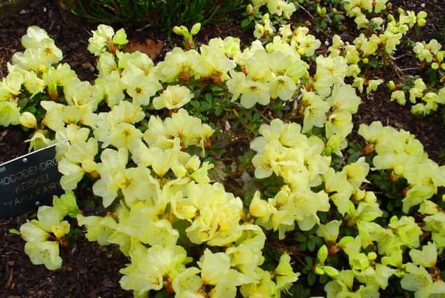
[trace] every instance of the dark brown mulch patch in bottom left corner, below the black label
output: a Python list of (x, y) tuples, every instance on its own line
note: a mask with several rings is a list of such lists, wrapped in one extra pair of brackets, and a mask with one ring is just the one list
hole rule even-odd
[(133, 297), (119, 285), (119, 269), (127, 263), (117, 247), (101, 247), (85, 240), (76, 249), (62, 250), (63, 267), (49, 271), (32, 265), (23, 240), (8, 233), (26, 221), (26, 215), (0, 220), (0, 297)]

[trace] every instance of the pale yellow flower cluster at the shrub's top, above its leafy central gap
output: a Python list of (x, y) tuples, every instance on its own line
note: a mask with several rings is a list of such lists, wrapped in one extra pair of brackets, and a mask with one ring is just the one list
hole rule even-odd
[(232, 101), (240, 98), (241, 106), (252, 108), (257, 103), (267, 105), (270, 99), (294, 100), (296, 90), (309, 77), (309, 66), (301, 56), (314, 55), (321, 44), (308, 32), (305, 27), (291, 31), (290, 26), (284, 26), (265, 47), (257, 40), (236, 55), (241, 72), (231, 70), (227, 81)]

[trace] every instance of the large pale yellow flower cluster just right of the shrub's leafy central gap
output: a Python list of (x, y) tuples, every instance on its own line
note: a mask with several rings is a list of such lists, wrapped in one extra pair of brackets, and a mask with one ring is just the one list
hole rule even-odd
[(307, 138), (299, 124), (284, 124), (274, 119), (263, 124), (250, 147), (257, 151), (252, 159), (255, 177), (263, 179), (275, 174), (282, 176), (285, 185), (274, 198), (264, 201), (257, 192), (250, 204), (250, 215), (257, 224), (279, 231), (280, 239), (286, 231), (295, 229), (295, 222), (303, 231), (318, 224), (318, 211), (330, 208), (325, 192), (314, 192), (311, 186), (321, 184), (321, 174), (330, 165), (330, 156), (322, 156), (323, 141), (316, 136)]

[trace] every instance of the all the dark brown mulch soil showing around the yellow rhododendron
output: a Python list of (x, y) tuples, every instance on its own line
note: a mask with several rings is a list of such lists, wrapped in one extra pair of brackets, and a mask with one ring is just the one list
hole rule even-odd
[[(401, 6), (405, 9), (419, 10), (421, 3), (425, 4), (422, 10), (428, 12), (428, 25), (421, 28), (421, 35), (412, 33), (412, 40), (429, 40), (437, 35), (441, 28), (441, 17), (445, 15), (445, 8), (440, 5), (441, 0), (430, 1), (392, 1), (394, 9)], [(310, 20), (304, 12), (294, 17), (295, 22)], [(66, 21), (66, 22), (65, 22)], [(197, 35), (198, 42), (207, 42), (210, 38), (232, 35), (240, 37), (245, 44), (250, 38), (240, 28), (241, 19), (230, 19), (225, 24), (211, 25), (202, 28)], [(70, 24), (71, 26), (68, 26)], [(55, 1), (35, 0), (23, 10), (9, 15), (0, 22), (0, 78), (6, 76), (8, 63), (16, 51), (22, 51), (20, 38), (26, 34), (26, 28), (37, 25), (49, 32), (56, 44), (63, 50), (63, 62), (69, 63), (83, 80), (92, 81), (95, 78), (91, 65), (95, 64), (95, 58), (86, 50), (90, 31), (94, 24), (86, 22), (73, 22), (67, 19), (66, 13), (60, 13)], [(353, 26), (353, 25), (350, 25)], [(353, 30), (353, 28), (351, 28)], [(343, 33), (343, 35), (347, 35)], [(140, 32), (127, 31), (134, 38), (149, 37), (153, 40), (167, 40), (165, 33), (159, 31), (146, 31), (144, 36)], [(444, 34), (444, 33), (442, 33)], [(330, 33), (325, 33), (330, 35)], [(328, 36), (319, 35), (321, 40)], [(180, 40), (173, 39), (173, 44), (179, 44)], [(444, 40), (442, 40), (444, 44)], [(171, 49), (171, 45), (165, 42), (163, 53)], [(411, 49), (401, 48), (394, 56), (400, 56), (395, 63), (405, 68), (403, 76), (421, 74), (419, 63), (410, 58)], [(159, 58), (162, 58), (162, 54)], [(385, 80), (397, 78), (394, 69), (386, 69), (377, 74)], [(398, 104), (391, 103), (385, 88), (379, 88), (377, 92), (369, 96), (363, 96), (359, 112), (354, 115), (355, 125), (369, 124), (380, 120), (383, 124), (394, 126), (398, 129), (410, 131), (421, 140), (430, 158), (442, 163), (439, 158), (441, 149), (445, 148), (445, 131), (442, 113), (435, 113), (426, 118), (414, 117), (410, 110)], [(357, 127), (355, 127), (355, 131)], [(0, 163), (26, 154), (27, 144), (24, 142), (28, 135), (18, 128), (0, 128)], [(353, 133), (353, 138), (357, 138)], [(0, 297), (132, 297), (132, 293), (122, 290), (119, 285), (119, 269), (124, 267), (127, 259), (113, 246), (100, 247), (96, 243), (90, 243), (84, 238), (79, 238), (76, 247), (62, 249), (63, 267), (60, 270), (49, 271), (42, 265), (31, 264), (24, 254), (24, 241), (19, 235), (10, 233), (10, 229), (19, 229), (26, 222), (29, 214), (20, 217), (0, 220)]]

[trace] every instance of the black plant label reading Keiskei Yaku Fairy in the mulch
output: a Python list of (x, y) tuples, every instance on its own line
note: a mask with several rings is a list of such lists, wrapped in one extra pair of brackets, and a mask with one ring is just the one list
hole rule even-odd
[(0, 165), (0, 218), (22, 215), (63, 194), (56, 144)]

